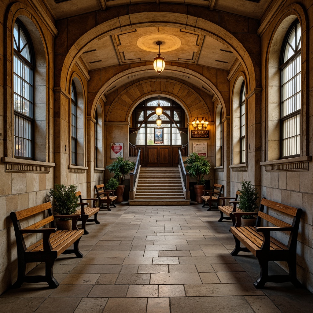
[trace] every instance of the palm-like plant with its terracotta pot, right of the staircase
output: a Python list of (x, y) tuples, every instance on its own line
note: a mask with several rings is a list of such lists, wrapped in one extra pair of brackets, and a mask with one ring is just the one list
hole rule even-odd
[(197, 184), (194, 185), (194, 191), (196, 194), (196, 202), (201, 203), (201, 196), (205, 189), (204, 175), (210, 173), (210, 163), (196, 152), (190, 153), (184, 163), (187, 164), (186, 170), (189, 172), (190, 177), (197, 179)]

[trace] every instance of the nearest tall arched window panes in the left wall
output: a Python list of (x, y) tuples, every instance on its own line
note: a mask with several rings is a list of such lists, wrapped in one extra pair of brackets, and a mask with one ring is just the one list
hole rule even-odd
[(34, 157), (34, 54), (27, 29), (16, 20), (13, 29), (14, 155)]

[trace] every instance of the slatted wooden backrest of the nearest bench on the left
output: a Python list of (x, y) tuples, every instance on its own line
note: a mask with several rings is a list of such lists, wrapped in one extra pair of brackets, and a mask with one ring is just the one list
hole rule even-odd
[(16, 244), (18, 248), (23, 249), (24, 251), (27, 249), (24, 238), (28, 236), (30, 233), (21, 234), (20, 230), (22, 229), (20, 221), (29, 218), (33, 215), (36, 215), (38, 213), (43, 213), (43, 215), (48, 215), (48, 217), (43, 218), (42, 220), (33, 223), (32, 225), (29, 225), (27, 227), (23, 227), (23, 229), (38, 229), (45, 225), (48, 225), (51, 223), (51, 227), (56, 227), (54, 222), (54, 216), (52, 214), (52, 206), (51, 202), (46, 202), (43, 204), (36, 205), (31, 208), (27, 208), (21, 211), (11, 212), (10, 217), (13, 222), (13, 228), (15, 232), (16, 237)]

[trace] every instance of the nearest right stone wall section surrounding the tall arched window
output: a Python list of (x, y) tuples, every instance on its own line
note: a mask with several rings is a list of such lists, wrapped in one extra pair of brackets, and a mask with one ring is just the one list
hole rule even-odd
[[(301, 25), (301, 151), (300, 157), (279, 160), (279, 54), (290, 24)], [(313, 291), (313, 90), (309, 69), (313, 64), (311, 1), (271, 3), (258, 30), (262, 44), (261, 93), (261, 197), (303, 209), (297, 246), (297, 275)], [(286, 168), (288, 166), (288, 169)], [(285, 218), (285, 217), (280, 217)], [(285, 267), (285, 264), (280, 264)]]

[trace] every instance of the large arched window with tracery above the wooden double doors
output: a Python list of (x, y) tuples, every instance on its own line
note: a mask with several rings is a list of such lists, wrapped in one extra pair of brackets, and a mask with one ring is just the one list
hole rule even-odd
[[(154, 144), (154, 127), (156, 127), (157, 115), (155, 109), (158, 106), (157, 98), (150, 98), (137, 105), (133, 114), (133, 125), (141, 126), (136, 137), (136, 146)], [(158, 145), (181, 145), (180, 131), (177, 127), (184, 127), (185, 112), (174, 100), (161, 98), (160, 106), (163, 113), (160, 116), (163, 127), (163, 144)]]

